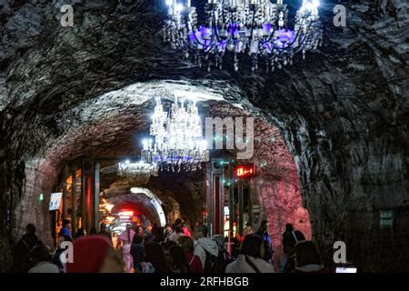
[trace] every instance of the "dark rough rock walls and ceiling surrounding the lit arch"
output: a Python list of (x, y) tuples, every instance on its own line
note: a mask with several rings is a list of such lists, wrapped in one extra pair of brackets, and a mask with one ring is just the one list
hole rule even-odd
[[(220, 79), (228, 100), (248, 104), (248, 97), (254, 112), (284, 133), (323, 250), (341, 239), (362, 270), (407, 270), (405, 1), (348, 5), (342, 29), (332, 25), (328, 4), (321, 53), (271, 77), (205, 75), (181, 61), (157, 42), (163, 15), (152, 3), (76, 4), (73, 29), (58, 25), (56, 3), (8, 1), (1, 8), (2, 244), (7, 210), (22, 197), (25, 161), (61, 135), (61, 112), (135, 81), (184, 79), (214, 88)], [(379, 229), (381, 208), (394, 209), (394, 229)], [(2, 262), (9, 262), (6, 253), (0, 251)]]

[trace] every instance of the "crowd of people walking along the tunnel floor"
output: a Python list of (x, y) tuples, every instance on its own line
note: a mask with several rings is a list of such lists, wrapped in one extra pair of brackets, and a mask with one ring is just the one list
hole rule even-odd
[[(173, 225), (131, 226), (112, 235), (104, 224), (100, 231), (84, 228), (73, 237), (65, 220), (54, 250), (35, 236), (35, 226), (26, 226), (15, 246), (15, 272), (28, 273), (326, 273), (317, 246), (287, 224), (282, 237), (283, 255), (273, 262), (272, 238), (267, 222), (257, 231), (250, 224), (233, 244), (220, 235), (208, 236), (207, 226), (191, 229), (185, 220)], [(73, 244), (73, 260), (64, 242)], [(278, 266), (274, 270), (274, 265)]]

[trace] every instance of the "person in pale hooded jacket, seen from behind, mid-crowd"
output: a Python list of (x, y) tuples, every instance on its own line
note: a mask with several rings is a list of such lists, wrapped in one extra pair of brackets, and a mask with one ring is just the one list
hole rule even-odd
[[(219, 256), (219, 247), (210, 237), (207, 237), (207, 227), (204, 225), (195, 226), (195, 256), (199, 256), (205, 270), (207, 254)], [(205, 270), (206, 272), (206, 270)]]

